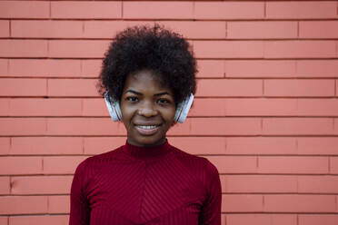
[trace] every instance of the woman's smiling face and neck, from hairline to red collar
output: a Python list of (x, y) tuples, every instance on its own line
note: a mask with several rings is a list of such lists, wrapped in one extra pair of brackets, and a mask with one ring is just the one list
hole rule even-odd
[(148, 70), (128, 75), (121, 98), (127, 140), (136, 146), (165, 142), (174, 122), (174, 94)]

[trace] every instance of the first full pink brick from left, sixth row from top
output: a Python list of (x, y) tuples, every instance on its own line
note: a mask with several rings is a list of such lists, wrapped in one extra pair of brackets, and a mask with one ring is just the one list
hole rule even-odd
[(78, 99), (11, 99), (11, 116), (78, 116), (82, 103)]

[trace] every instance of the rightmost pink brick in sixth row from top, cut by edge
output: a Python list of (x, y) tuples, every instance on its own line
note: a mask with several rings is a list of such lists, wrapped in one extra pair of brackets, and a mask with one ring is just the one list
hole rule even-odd
[(337, 99), (298, 99), (298, 114), (306, 116), (338, 115)]

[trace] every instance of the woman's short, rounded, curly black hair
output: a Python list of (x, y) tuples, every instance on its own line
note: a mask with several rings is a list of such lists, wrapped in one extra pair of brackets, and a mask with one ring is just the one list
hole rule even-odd
[(158, 75), (181, 103), (195, 93), (196, 61), (190, 44), (181, 34), (159, 24), (133, 26), (116, 34), (104, 54), (98, 92), (120, 100), (126, 77), (141, 70)]

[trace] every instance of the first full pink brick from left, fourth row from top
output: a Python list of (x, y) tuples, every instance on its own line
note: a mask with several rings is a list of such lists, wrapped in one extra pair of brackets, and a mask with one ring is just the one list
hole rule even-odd
[(41, 77), (79, 77), (81, 62), (79, 60), (50, 59), (11, 59), (9, 60), (11, 76)]

